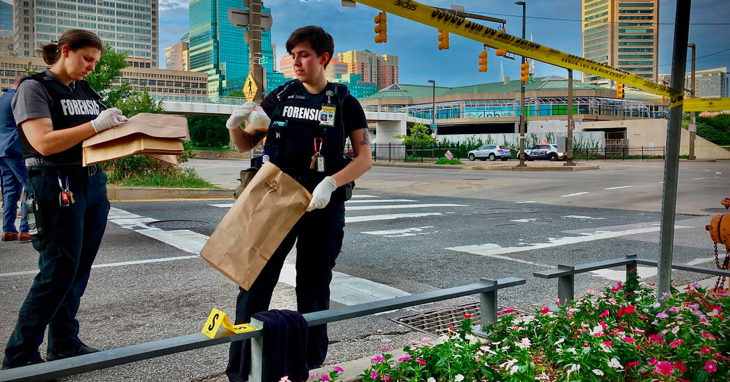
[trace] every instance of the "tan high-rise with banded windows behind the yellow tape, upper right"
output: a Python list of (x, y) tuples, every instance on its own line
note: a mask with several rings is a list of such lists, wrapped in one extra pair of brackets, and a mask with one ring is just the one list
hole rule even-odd
[[(652, 81), (658, 78), (659, 0), (581, 0), (583, 57)], [(583, 74), (583, 82), (607, 79)]]

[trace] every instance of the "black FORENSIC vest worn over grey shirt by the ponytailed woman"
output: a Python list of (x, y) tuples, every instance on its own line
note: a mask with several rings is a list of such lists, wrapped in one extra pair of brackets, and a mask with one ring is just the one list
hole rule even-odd
[[(101, 96), (91, 88), (85, 80), (76, 81), (75, 90), (67, 87), (58, 79), (48, 76), (45, 72), (32, 74), (26, 79), (35, 79), (38, 81), (53, 99), (50, 105), (50, 119), (53, 123), (53, 130), (64, 130), (82, 125), (96, 118), (101, 112), (99, 99)], [(36, 157), (55, 165), (74, 165), (81, 163), (81, 142), (52, 155), (42, 155), (31, 146), (23, 133), (23, 129), (18, 126), (18, 137), (20, 138), (20, 150), (23, 152), (23, 158)]]

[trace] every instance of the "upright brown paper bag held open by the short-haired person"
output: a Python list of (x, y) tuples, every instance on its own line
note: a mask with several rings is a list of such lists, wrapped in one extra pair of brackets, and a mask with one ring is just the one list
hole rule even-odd
[(312, 195), (276, 165), (264, 163), (200, 251), (243, 289), (304, 215)]

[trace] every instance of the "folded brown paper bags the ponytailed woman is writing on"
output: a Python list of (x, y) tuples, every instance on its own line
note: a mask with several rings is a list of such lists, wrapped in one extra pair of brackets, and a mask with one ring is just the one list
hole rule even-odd
[(183, 140), (190, 141), (185, 117), (139, 113), (83, 141), (82, 165), (137, 154), (177, 164), (177, 155), (183, 154)]

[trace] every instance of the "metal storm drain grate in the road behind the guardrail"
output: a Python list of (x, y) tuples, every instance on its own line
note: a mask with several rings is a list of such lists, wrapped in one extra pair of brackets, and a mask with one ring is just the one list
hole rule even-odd
[[(499, 306), (498, 308), (499, 312), (507, 310), (505, 306)], [(438, 338), (449, 331), (451, 324), (458, 326), (464, 320), (464, 313), (471, 314), (472, 322), (478, 323), (480, 317), (479, 303), (467, 303), (451, 308), (440, 308), (434, 311), (415, 313), (410, 316), (396, 317), (391, 319), (391, 321)], [(531, 316), (521, 311), (516, 311), (513, 314), (515, 317)]]

